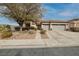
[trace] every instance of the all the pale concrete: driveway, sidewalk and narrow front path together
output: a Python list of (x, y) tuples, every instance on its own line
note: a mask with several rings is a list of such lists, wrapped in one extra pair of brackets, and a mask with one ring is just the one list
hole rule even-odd
[(39, 31), (37, 31), (36, 39), (0, 40), (0, 49), (79, 46), (78, 32), (47, 31), (46, 34), (48, 35), (49, 39), (41, 39)]

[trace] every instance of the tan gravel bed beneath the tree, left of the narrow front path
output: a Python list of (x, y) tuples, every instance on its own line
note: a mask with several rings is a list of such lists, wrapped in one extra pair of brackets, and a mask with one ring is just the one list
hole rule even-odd
[[(29, 33), (29, 32), (13, 32), (13, 35), (10, 38), (6, 38), (6, 40), (12, 40), (12, 39), (35, 39), (36, 32)], [(0, 37), (1, 39), (1, 37)], [(3, 39), (5, 40), (5, 39)]]

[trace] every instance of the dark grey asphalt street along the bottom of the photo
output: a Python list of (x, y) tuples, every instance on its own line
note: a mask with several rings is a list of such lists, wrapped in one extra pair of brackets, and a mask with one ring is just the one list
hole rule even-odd
[(79, 56), (79, 47), (0, 49), (0, 56)]

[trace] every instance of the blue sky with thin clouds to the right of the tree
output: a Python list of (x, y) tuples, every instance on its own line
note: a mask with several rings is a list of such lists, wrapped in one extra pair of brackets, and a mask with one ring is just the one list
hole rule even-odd
[(79, 18), (78, 3), (44, 3), (42, 7), (46, 9), (43, 13), (45, 20), (71, 20)]

